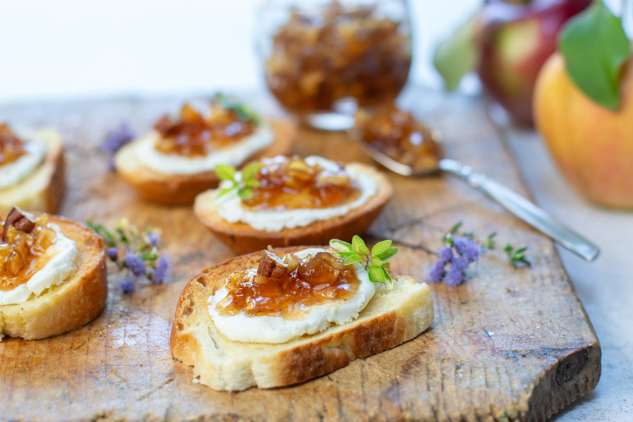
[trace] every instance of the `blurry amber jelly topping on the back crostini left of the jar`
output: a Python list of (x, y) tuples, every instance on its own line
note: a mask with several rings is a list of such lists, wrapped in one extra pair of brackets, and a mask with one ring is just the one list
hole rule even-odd
[(225, 108), (216, 101), (211, 104), (210, 114), (203, 116), (191, 104), (185, 104), (179, 120), (166, 115), (154, 124), (161, 135), (154, 147), (164, 154), (188, 157), (205, 156), (227, 147), (256, 130), (257, 122), (248, 113), (241, 113), (239, 107), (243, 106)]

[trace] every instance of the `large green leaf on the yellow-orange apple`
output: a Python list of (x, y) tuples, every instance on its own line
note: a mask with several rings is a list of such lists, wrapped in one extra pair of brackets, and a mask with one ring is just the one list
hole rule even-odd
[(622, 20), (596, 1), (567, 22), (559, 47), (567, 73), (580, 90), (606, 108), (617, 109), (618, 77), (630, 52)]

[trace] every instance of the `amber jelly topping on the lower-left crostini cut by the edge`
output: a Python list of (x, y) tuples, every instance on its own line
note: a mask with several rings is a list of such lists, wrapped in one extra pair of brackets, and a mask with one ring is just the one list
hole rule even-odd
[(14, 226), (8, 228), (6, 240), (0, 240), (0, 290), (15, 289), (46, 266), (51, 258), (46, 250), (57, 235), (47, 225), (45, 214), (35, 220), (35, 227), (28, 233)]

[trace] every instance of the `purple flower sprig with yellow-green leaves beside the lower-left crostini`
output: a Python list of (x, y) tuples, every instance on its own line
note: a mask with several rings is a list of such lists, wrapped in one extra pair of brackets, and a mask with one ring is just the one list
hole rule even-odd
[(125, 278), (119, 285), (123, 293), (134, 293), (135, 282), (142, 278), (151, 280), (154, 285), (171, 280), (173, 259), (158, 253), (161, 244), (158, 229), (146, 227), (139, 230), (127, 219), (118, 221), (113, 229), (95, 225), (92, 221), (87, 225), (103, 237), (110, 261), (120, 271), (125, 270)]

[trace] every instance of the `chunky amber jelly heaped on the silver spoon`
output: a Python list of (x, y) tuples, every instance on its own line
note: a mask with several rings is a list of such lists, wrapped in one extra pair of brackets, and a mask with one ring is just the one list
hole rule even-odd
[(444, 158), (444, 150), (429, 128), (395, 104), (371, 111), (360, 109), (354, 133), (390, 158), (417, 170), (435, 169)]

